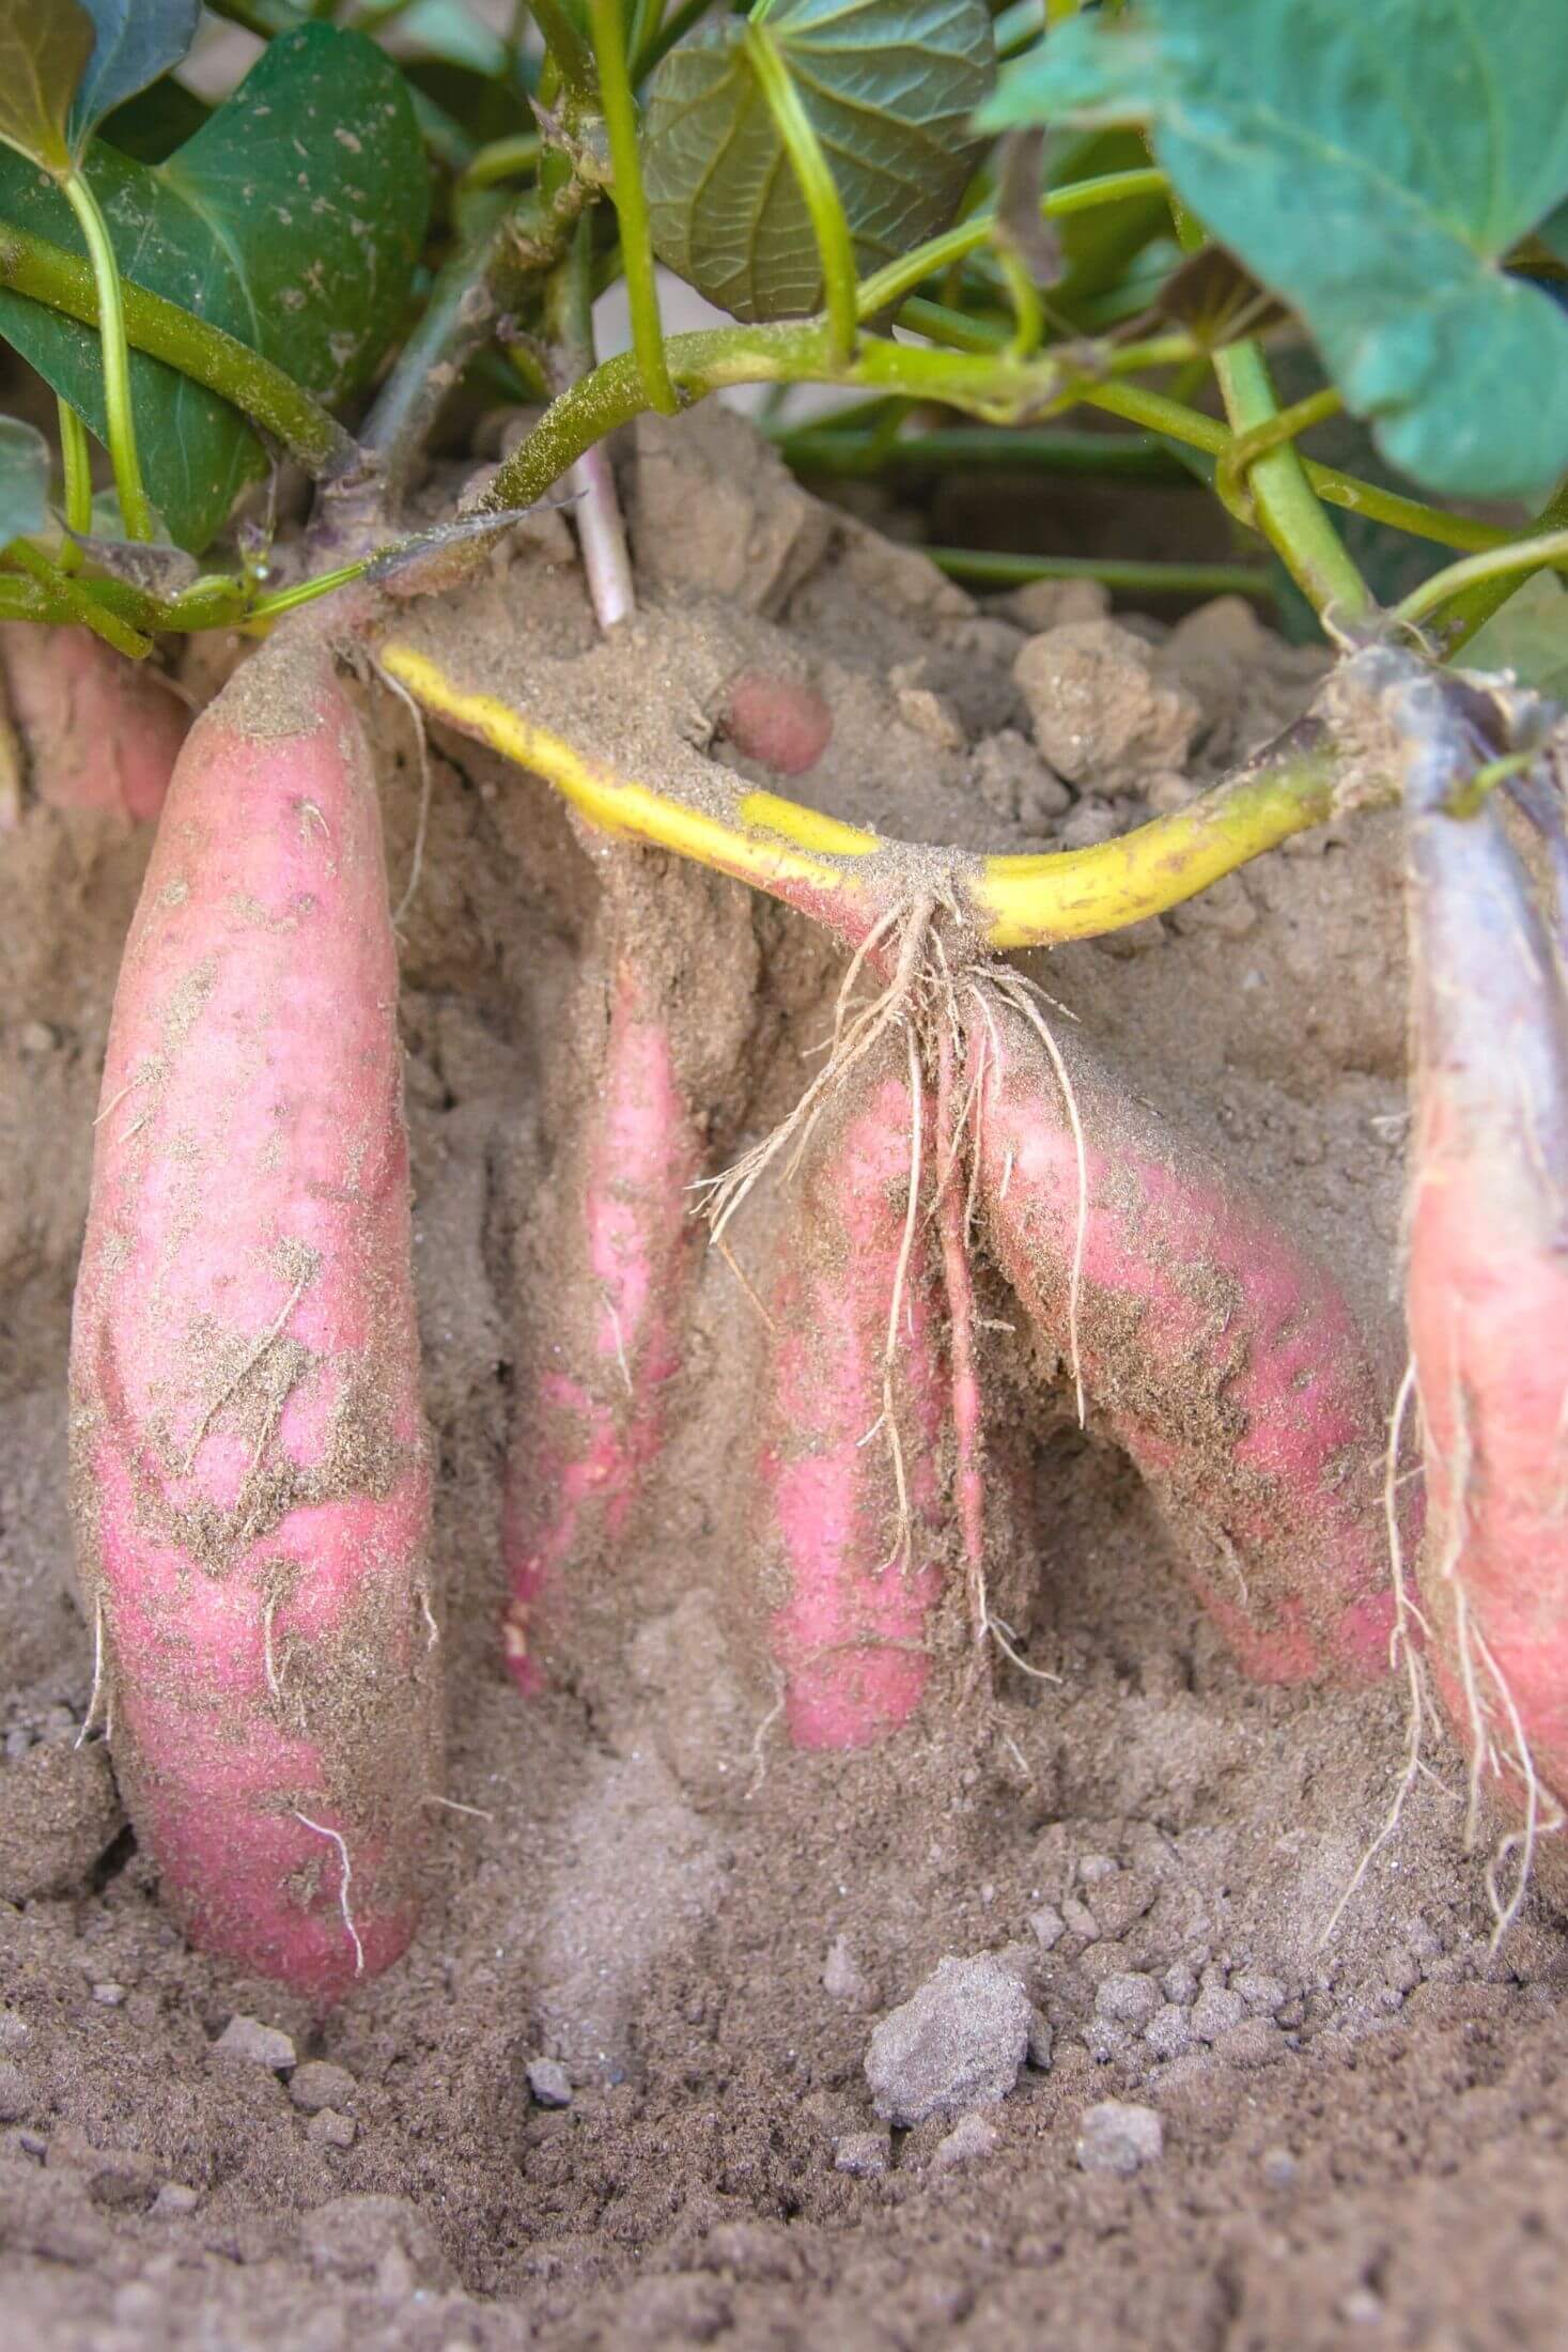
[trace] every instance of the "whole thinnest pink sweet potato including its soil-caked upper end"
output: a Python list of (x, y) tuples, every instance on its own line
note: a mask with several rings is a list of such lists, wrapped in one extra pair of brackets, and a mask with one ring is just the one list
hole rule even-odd
[(701, 1265), (708, 1120), (755, 1016), (745, 891), (658, 851), (590, 849), (599, 906), (548, 1080), (552, 1164), (520, 1235), (503, 1651), (524, 1693), (571, 1644), (578, 1599), (623, 1606)]

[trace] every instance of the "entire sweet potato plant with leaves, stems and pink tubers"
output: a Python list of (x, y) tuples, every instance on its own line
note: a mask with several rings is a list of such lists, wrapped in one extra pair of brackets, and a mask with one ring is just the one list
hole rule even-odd
[[(597, 842), (569, 1023), (597, 1037), (592, 1082), (496, 1496), (520, 1691), (637, 1541), (703, 1223), (726, 1247), (766, 1178), (771, 1376), (733, 1475), (797, 1743), (936, 1705), (950, 1595), (976, 1672), (1027, 1668), (990, 1599), (1011, 1470), (980, 1270), (1039, 1381), (1150, 1482), (1239, 1663), (1399, 1668), (1413, 1738), (1434, 1689), (1497, 1823), (1502, 1919), (1554, 1860), (1568, 739), (1537, 687), (1568, 564), (1561, 31), (1559, 0), (0, 0), (0, 336), (26, 412), (0, 421), (0, 821), (35, 790), (160, 828), (71, 1362), (92, 1724), (197, 1940), (331, 1999), (407, 1943), (440, 1823), (397, 957), (357, 701), (386, 689)], [(661, 270), (715, 325), (668, 334)], [(630, 348), (599, 358), (616, 278)], [(1281, 358), (1305, 383), (1284, 402)], [(933, 553), (980, 586), (1279, 597), (1338, 666), (1229, 781), (1041, 856), (891, 840), (717, 760), (630, 774), (614, 715), (585, 743), (531, 689), (527, 642), (425, 621), (562, 501), (621, 626), (609, 435), (743, 383), (809, 477), (1213, 494), (1225, 564), (1150, 557), (1133, 492), (1114, 562)], [(802, 416), (799, 386), (839, 397)], [(435, 513), (433, 454), (496, 405), (527, 430)], [(1340, 416), (1368, 477), (1307, 454)], [(1410, 548), (1429, 560), (1394, 597)], [(186, 734), (148, 680), (200, 630), (259, 649)], [(827, 724), (788, 677), (733, 682), (731, 739), (780, 786)], [(1159, 915), (1328, 818), (1354, 856), (1361, 811), (1401, 802), (1392, 1399), (1333, 1272), (1016, 955)], [(844, 955), (830, 1049), (736, 1167), (710, 1164), (719, 1075), (686, 1021), (729, 948), (670, 854)]]

